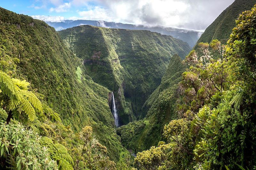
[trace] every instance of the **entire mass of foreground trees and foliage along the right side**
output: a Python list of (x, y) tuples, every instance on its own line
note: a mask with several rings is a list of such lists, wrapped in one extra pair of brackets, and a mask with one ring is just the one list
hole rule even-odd
[(185, 118), (164, 128), (170, 144), (167, 168), (256, 168), (255, 10), (238, 18), (226, 52), (219, 41), (210, 43), (220, 59), (213, 59), (208, 43), (199, 44), (200, 59), (196, 51), (188, 55), (193, 66), (183, 73), (178, 100)]

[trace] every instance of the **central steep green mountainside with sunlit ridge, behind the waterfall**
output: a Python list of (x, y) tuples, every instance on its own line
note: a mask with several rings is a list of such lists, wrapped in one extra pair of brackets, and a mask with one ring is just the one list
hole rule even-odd
[(84, 60), (93, 81), (114, 92), (121, 124), (141, 115), (141, 107), (157, 88), (170, 57), (185, 57), (190, 47), (171, 36), (150, 31), (77, 26), (59, 32)]

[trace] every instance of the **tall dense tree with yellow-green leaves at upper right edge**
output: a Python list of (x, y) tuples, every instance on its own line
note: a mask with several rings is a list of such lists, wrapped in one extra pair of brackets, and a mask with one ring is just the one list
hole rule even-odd
[(230, 34), (227, 55), (232, 62), (234, 81), (245, 84), (248, 98), (254, 100), (256, 92), (256, 5), (244, 11), (236, 20), (236, 27)]

